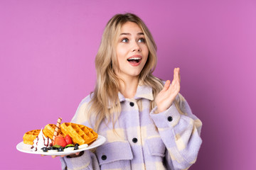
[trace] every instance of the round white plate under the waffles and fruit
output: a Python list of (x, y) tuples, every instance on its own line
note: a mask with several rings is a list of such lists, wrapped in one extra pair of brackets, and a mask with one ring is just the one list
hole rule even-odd
[(31, 151), (32, 145), (24, 144), (23, 142), (20, 142), (16, 146), (16, 149), (18, 149), (18, 151), (20, 151), (20, 152), (25, 152), (25, 153), (28, 153), (28, 154), (44, 154), (44, 155), (75, 154), (76, 152), (81, 152), (81, 151), (84, 151), (84, 150), (88, 150), (88, 149), (93, 149), (95, 147), (99, 147), (105, 141), (106, 141), (105, 137), (103, 137), (101, 135), (98, 135), (97, 140), (95, 140), (95, 142), (92, 142), (92, 144), (89, 145), (88, 147), (84, 147), (82, 149), (77, 149), (77, 150), (68, 151), (68, 152), (35, 152), (35, 151)]

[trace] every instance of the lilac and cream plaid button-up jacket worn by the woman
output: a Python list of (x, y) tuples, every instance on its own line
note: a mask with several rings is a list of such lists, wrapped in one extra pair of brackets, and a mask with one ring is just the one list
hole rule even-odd
[[(60, 158), (62, 169), (188, 169), (196, 162), (201, 146), (201, 120), (191, 113), (186, 100), (178, 94), (178, 105), (155, 114), (149, 111), (153, 101), (149, 86), (138, 86), (134, 98), (124, 98), (119, 93), (122, 111), (117, 123), (100, 125), (98, 134), (106, 137), (105, 144), (95, 152), (86, 151), (82, 156)], [(87, 96), (80, 103), (72, 122), (90, 128), (85, 108)]]

